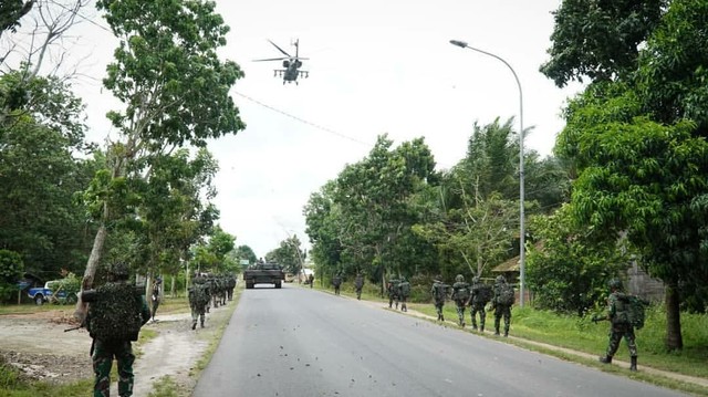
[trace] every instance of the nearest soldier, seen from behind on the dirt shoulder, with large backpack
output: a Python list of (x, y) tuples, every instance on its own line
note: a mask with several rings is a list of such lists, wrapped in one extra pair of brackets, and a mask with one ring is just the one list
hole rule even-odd
[(85, 324), (93, 338), (93, 395), (102, 397), (111, 393), (111, 367), (115, 357), (118, 395), (132, 396), (135, 362), (132, 341), (137, 341), (140, 327), (150, 318), (150, 310), (143, 294), (127, 283), (127, 264), (114, 263), (108, 271), (108, 279), (104, 285), (82, 294), (82, 300), (88, 302)]

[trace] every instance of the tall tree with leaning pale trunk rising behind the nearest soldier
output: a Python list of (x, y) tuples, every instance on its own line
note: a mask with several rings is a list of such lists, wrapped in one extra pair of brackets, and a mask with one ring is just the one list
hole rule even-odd
[[(149, 175), (153, 156), (185, 145), (201, 147), (244, 127), (229, 95), (242, 73), (235, 62), (218, 58), (229, 28), (214, 2), (98, 0), (96, 7), (119, 40), (104, 85), (125, 108), (108, 114), (122, 140), (110, 145), (108, 171), (97, 175), (92, 189), (97, 195), (87, 197), (103, 210), (85, 285), (95, 274), (108, 227), (133, 217), (131, 208), (139, 205), (126, 178)], [(82, 312), (80, 302), (76, 316)]]

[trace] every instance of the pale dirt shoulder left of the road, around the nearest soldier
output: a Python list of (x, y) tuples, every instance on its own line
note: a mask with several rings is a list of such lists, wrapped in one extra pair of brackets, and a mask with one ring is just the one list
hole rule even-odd
[[(197, 363), (209, 344), (218, 341), (222, 325), (231, 316), (236, 301), (210, 310), (205, 327), (191, 330), (188, 307), (184, 312), (160, 315), (143, 330), (156, 336), (134, 343), (135, 396), (147, 396), (155, 382), (169, 376), (180, 395), (188, 396), (196, 384), (192, 376)], [(33, 314), (0, 315), (0, 356), (19, 368), (23, 376), (51, 384), (67, 384), (93, 377), (88, 352), (92, 338), (84, 328), (65, 332), (72, 326), (67, 310)], [(113, 379), (112, 394), (117, 395)]]

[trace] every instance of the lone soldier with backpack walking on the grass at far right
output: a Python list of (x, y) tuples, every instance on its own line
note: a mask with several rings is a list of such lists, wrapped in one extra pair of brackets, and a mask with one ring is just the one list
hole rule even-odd
[(612, 323), (610, 328), (610, 343), (607, 352), (600, 357), (601, 363), (612, 363), (612, 357), (617, 353), (620, 341), (624, 337), (629, 348), (629, 370), (637, 370), (637, 345), (634, 336), (634, 328), (644, 325), (644, 306), (646, 301), (637, 296), (623, 293), (622, 281), (620, 279), (610, 280), (610, 296), (607, 296), (607, 313), (604, 316), (593, 316), (593, 322), (608, 320)]

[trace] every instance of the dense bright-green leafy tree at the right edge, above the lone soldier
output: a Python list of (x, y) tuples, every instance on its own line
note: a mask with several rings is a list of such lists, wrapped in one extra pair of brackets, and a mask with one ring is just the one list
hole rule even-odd
[[(568, 125), (556, 143), (558, 153), (577, 167), (572, 206), (579, 221), (607, 238), (626, 231), (644, 267), (666, 283), (670, 349), (683, 347), (681, 292), (705, 295), (696, 284), (708, 274), (708, 95), (706, 54), (697, 50), (708, 45), (707, 12), (705, 0), (677, 0), (658, 21), (642, 22), (638, 29), (647, 32), (646, 43), (627, 66), (632, 73), (617, 73), (614, 84), (591, 84), (569, 105)], [(576, 36), (563, 40), (579, 49), (586, 42)], [(586, 66), (600, 67), (592, 62)], [(569, 67), (564, 73), (574, 72)]]

